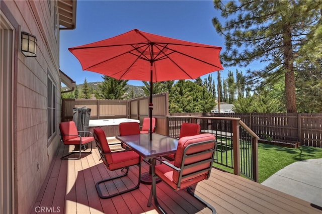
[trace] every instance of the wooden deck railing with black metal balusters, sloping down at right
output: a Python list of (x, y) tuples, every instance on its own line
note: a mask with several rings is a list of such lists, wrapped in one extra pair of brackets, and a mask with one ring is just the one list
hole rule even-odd
[(168, 135), (179, 138), (182, 123), (197, 123), (202, 133), (216, 136), (215, 164), (258, 182), (258, 136), (240, 118), (167, 116)]

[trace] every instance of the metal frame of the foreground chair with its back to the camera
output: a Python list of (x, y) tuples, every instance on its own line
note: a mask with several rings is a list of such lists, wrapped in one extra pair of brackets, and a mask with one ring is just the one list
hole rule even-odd
[[(185, 178), (185, 177), (189, 177), (191, 175), (194, 175), (194, 174), (198, 174), (200, 172), (204, 172), (204, 171), (209, 171), (208, 173), (208, 177), (207, 179), (209, 178), (210, 176), (210, 172), (211, 172), (211, 168), (212, 168), (212, 163), (214, 161), (214, 155), (215, 155), (215, 151), (217, 149), (217, 144), (216, 142), (214, 141), (215, 143), (215, 147), (213, 149), (210, 149), (210, 150), (204, 150), (202, 152), (198, 152), (198, 153), (194, 153), (194, 154), (186, 154), (186, 152), (188, 151), (189, 148), (191, 147), (194, 147), (194, 146), (199, 146), (199, 145), (202, 145), (202, 144), (207, 144), (207, 143), (210, 143), (212, 142), (211, 141), (203, 141), (203, 142), (197, 142), (197, 143), (193, 143), (193, 144), (190, 144), (188, 145), (185, 150), (184, 150), (184, 154), (183, 154), (183, 160), (182, 160), (182, 164), (181, 164), (181, 168), (178, 168), (176, 166), (174, 166), (173, 164), (169, 163), (168, 161), (164, 161), (162, 159), (159, 159), (159, 158), (155, 158), (159, 161), (161, 161), (163, 164), (166, 164), (168, 166), (170, 166), (171, 168), (173, 168), (174, 170), (180, 172), (180, 175), (179, 175), (179, 181), (178, 181), (178, 185), (177, 185), (177, 188), (180, 188), (180, 185), (181, 185), (181, 179), (182, 178)], [(203, 161), (200, 161), (200, 162), (195, 162), (195, 163), (192, 163), (192, 164), (189, 164), (189, 165), (185, 165), (185, 159), (188, 158), (188, 157), (193, 157), (193, 156), (197, 156), (197, 155), (200, 155), (200, 154), (203, 154), (203, 153), (209, 153), (209, 152), (212, 152), (212, 158), (209, 158), (209, 159), (206, 159), (206, 160), (203, 160)], [(207, 163), (209, 162), (210, 163), (210, 167), (207, 168), (207, 169), (203, 169), (203, 170), (199, 170), (197, 172), (194, 172), (194, 173), (190, 173), (190, 174), (187, 174), (187, 175), (182, 175), (184, 169), (188, 169), (190, 167), (194, 167), (194, 166), (198, 166), (200, 164), (204, 164), (204, 163)], [(151, 202), (152, 202), (152, 196), (154, 198), (154, 204), (155, 206), (158, 208), (158, 210), (161, 212), (161, 213), (167, 213), (165, 211), (165, 209), (158, 203), (157, 201), (157, 197), (156, 197), (156, 179), (157, 179), (157, 175), (155, 175), (155, 168), (154, 168), (154, 165), (152, 164), (152, 187), (151, 187), (151, 191), (150, 191), (150, 196), (149, 196), (149, 200), (148, 200), (148, 204), (147, 206), (151, 206)], [(200, 181), (199, 181), (200, 182)], [(167, 184), (167, 182), (164, 182)], [(170, 186), (169, 184), (167, 184), (168, 186)], [(173, 189), (173, 187), (170, 186), (171, 189)], [(174, 191), (179, 191), (179, 190), (175, 190), (173, 189)], [(211, 209), (212, 213), (216, 213), (216, 209), (210, 205), (208, 202), (206, 202), (205, 200), (203, 200), (200, 196), (196, 195), (195, 193), (192, 192), (192, 187), (189, 186), (186, 188), (186, 190), (192, 195), (194, 196), (196, 199), (198, 199), (201, 203), (203, 203), (206, 207), (208, 207), (209, 209)]]

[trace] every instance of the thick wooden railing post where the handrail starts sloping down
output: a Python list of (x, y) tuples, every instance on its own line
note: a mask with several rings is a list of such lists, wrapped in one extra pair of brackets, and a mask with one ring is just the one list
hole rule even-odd
[(233, 173), (240, 175), (239, 122), (232, 121)]

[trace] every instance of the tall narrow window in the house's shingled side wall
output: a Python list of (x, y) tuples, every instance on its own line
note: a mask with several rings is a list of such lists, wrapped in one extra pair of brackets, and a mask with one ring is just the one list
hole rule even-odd
[(48, 139), (56, 133), (56, 84), (47, 79), (47, 133)]

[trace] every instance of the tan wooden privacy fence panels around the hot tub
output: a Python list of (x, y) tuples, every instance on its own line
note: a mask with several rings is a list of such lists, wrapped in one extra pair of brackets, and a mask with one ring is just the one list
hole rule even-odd
[[(156, 118), (156, 132), (167, 134), (167, 119), (169, 115), (168, 92), (153, 94), (152, 116)], [(91, 120), (131, 118), (140, 120), (149, 117), (149, 96), (141, 96), (133, 99), (62, 99), (61, 121), (71, 121), (73, 108), (84, 107), (91, 109)]]

